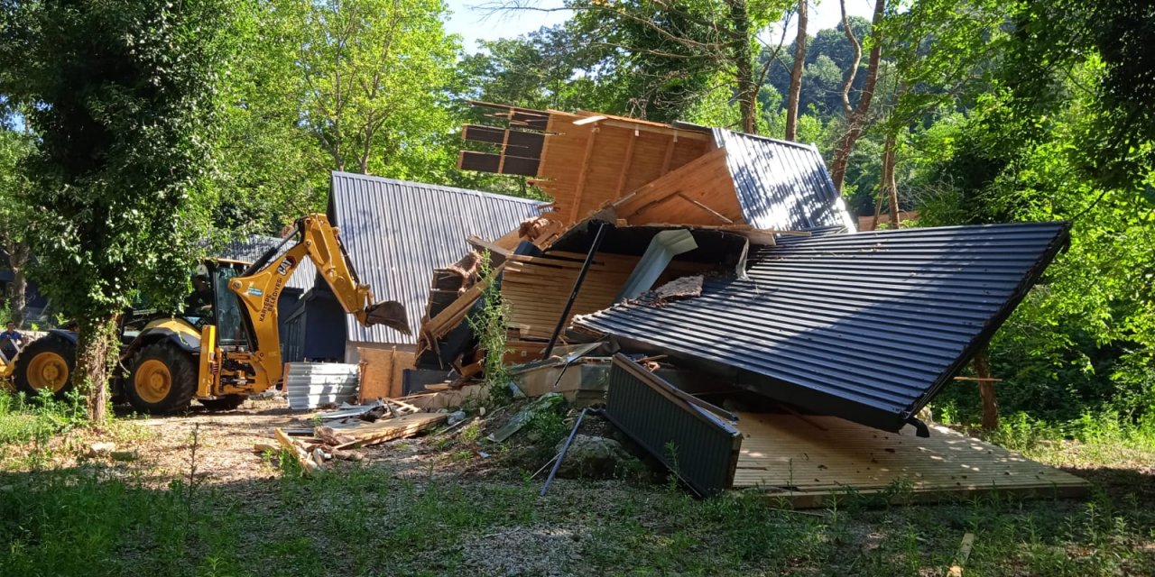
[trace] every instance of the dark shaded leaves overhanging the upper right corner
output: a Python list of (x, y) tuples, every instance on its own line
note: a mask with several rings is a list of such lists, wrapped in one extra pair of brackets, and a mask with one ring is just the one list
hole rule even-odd
[[(1000, 75), (1013, 95), (1012, 114), (1045, 119), (1072, 98), (1087, 100), (1094, 129), (1081, 134), (1067, 162), (1104, 188), (1155, 201), (1143, 181), (1155, 170), (1155, 63), (1148, 57), (1155, 6), (1045, 0), (1015, 8)], [(1087, 65), (1101, 77), (1076, 81), (1072, 72)], [(1046, 122), (1022, 128), (1027, 135), (1048, 129)]]

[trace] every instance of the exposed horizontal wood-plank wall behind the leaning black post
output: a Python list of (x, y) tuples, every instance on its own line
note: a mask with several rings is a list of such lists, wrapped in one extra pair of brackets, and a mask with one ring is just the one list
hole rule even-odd
[[(508, 325), (522, 339), (550, 338), (583, 258), (584, 255), (573, 253), (509, 257), (501, 280), (501, 298), (509, 307)], [(569, 319), (611, 306), (636, 264), (636, 256), (598, 254), (578, 291)]]

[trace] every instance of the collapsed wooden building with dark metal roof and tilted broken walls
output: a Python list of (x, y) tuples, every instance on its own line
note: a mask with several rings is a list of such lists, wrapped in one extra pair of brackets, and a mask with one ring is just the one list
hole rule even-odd
[[(487, 125), (464, 127), (459, 166), (527, 178), (552, 202), (515, 230), (463, 235), (471, 250), (429, 271), (403, 394), (484, 376), (470, 320), (497, 292), (523, 392), (591, 389), (703, 495), (757, 486), (815, 504), (840, 485), (1085, 489), (917, 417), (1040, 279), (1066, 224), (859, 233), (813, 145), (477, 106)], [(830, 472), (783, 481), (805, 455)]]

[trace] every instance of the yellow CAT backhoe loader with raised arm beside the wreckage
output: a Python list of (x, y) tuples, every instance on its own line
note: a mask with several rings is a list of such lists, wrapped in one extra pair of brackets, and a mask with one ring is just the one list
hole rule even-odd
[[(284, 253), (285, 243), (296, 245)], [(120, 364), (113, 394), (152, 414), (184, 411), (195, 398), (210, 410), (239, 406), (283, 377), (277, 300), (304, 258), (333, 288), (348, 314), (366, 325), (409, 334), (404, 306), (374, 302), (349, 262), (336, 227), (323, 215), (297, 222), (297, 234), (252, 264), (210, 260), (193, 275), (194, 292), (180, 314), (140, 309), (120, 322)], [(76, 367), (76, 334), (52, 330), (0, 366), (18, 390), (64, 395)]]

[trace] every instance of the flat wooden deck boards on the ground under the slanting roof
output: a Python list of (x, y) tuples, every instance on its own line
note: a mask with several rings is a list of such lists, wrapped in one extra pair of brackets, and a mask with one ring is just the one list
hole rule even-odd
[(919, 439), (914, 427), (894, 434), (835, 417), (804, 421), (740, 413), (738, 428), (743, 441), (733, 487), (760, 487), (795, 507), (897, 486), (908, 487), (915, 500), (991, 490), (1076, 496), (1088, 487), (1073, 474), (946, 427), (931, 427), (931, 436)]

